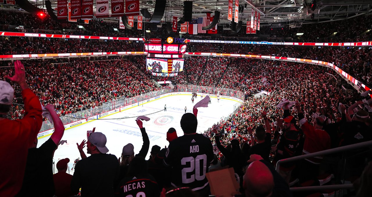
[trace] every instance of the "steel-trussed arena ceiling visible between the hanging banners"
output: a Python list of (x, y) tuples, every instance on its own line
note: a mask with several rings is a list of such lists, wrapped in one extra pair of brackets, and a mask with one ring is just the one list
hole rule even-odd
[[(36, 0), (30, 0), (36, 5)], [(42, 5), (43, 0), (37, 0)], [(52, 7), (57, 7), (57, 0), (51, 0)], [(94, 9), (95, 9), (94, 1)], [(343, 20), (363, 15), (372, 11), (372, 0), (317, 0), (314, 11), (311, 10), (312, 0), (239, 0), (244, 6), (243, 13), (239, 13), (239, 20), (243, 24), (251, 17), (253, 7), (261, 13), (262, 25), (302, 25), (304, 23), (329, 22)], [(141, 8), (148, 8), (153, 13), (155, 0), (140, 0)], [(183, 0), (167, 0), (167, 10), (163, 20), (169, 21), (171, 17), (183, 16)], [(42, 7), (42, 6), (41, 6)], [(228, 0), (193, 0), (193, 17), (205, 17), (206, 12), (215, 10), (221, 12), (219, 24), (231, 23), (227, 20)], [(314, 13), (314, 19), (311, 14)]]

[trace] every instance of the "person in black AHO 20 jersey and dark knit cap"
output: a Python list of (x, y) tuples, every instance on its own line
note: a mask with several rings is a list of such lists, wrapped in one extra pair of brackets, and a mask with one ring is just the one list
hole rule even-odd
[(169, 144), (164, 164), (172, 167), (171, 185), (190, 187), (201, 196), (208, 196), (210, 188), (205, 174), (214, 159), (213, 147), (211, 140), (196, 133), (197, 126), (194, 114), (183, 114), (184, 135)]

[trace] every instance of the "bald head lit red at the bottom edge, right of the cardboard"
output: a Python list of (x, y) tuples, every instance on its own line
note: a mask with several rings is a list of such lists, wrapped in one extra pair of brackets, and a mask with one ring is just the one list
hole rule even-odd
[(252, 162), (244, 177), (244, 187), (247, 197), (271, 196), (274, 188), (274, 178), (267, 166), (260, 162)]

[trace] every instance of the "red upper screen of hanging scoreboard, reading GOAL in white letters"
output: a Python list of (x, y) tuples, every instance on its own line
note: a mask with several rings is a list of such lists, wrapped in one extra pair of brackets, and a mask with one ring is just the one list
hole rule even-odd
[(186, 44), (145, 44), (145, 52), (165, 53), (165, 54), (184, 54), (186, 53)]

